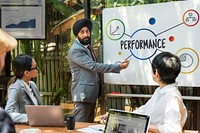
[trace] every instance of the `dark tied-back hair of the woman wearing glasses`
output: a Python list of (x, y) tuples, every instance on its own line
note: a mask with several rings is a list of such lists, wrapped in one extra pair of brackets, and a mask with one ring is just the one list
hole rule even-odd
[(20, 54), (12, 62), (14, 77), (11, 78), (8, 85), (13, 84), (16, 79), (21, 79), (25, 70), (30, 70), (32, 66), (32, 57), (27, 54)]

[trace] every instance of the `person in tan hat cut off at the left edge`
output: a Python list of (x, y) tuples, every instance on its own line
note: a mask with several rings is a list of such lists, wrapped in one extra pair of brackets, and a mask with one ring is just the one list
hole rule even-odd
[[(17, 40), (0, 29), (0, 72), (4, 67), (5, 55), (17, 46)], [(10, 116), (0, 108), (0, 133), (16, 133)]]

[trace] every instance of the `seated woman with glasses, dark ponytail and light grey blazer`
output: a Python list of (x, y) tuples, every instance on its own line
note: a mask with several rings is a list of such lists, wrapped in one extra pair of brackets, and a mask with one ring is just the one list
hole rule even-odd
[(12, 64), (14, 77), (8, 88), (8, 100), (5, 111), (11, 116), (14, 123), (26, 123), (28, 117), (25, 105), (41, 105), (41, 97), (36, 84), (31, 81), (37, 77), (38, 67), (35, 60), (29, 55), (18, 55)]

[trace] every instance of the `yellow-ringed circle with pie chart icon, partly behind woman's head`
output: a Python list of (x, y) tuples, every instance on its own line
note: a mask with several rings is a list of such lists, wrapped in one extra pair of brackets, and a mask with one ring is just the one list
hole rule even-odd
[(181, 73), (190, 74), (194, 72), (199, 65), (199, 56), (191, 48), (182, 48), (176, 52), (181, 60)]

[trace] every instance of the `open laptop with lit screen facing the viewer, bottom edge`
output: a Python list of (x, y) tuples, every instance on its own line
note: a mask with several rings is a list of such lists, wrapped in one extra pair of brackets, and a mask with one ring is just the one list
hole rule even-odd
[(104, 133), (148, 133), (150, 116), (110, 109)]

